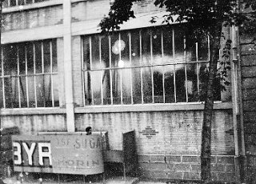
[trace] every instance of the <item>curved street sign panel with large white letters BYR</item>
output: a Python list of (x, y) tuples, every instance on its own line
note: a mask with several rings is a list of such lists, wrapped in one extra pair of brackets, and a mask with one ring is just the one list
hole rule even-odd
[(99, 174), (104, 171), (99, 134), (13, 135), (14, 171)]

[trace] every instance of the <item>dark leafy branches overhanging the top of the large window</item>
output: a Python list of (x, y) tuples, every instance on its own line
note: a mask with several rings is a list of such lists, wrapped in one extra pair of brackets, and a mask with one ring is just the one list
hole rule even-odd
[[(120, 24), (135, 18), (131, 8), (136, 1), (140, 0), (116, 0), (110, 6), (108, 16), (99, 24), (102, 32), (118, 30)], [(223, 22), (232, 24), (238, 19), (234, 11), (237, 6), (235, 0), (156, 0), (154, 5), (166, 9), (164, 18), (167, 23), (187, 22), (186, 30), (190, 30), (190, 34), (194, 33), (195, 38), (211, 33), (222, 26)], [(177, 15), (174, 20), (173, 17)]]

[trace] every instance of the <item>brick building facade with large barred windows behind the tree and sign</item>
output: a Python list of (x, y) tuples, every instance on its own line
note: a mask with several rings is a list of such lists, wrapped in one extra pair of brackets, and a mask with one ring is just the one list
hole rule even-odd
[[(108, 132), (113, 150), (122, 149), (122, 132), (135, 130), (141, 177), (200, 179), (209, 39), (191, 43), (180, 26), (162, 25), (163, 10), (150, 0), (135, 4), (137, 18), (121, 31), (100, 34), (110, 3), (4, 2), (2, 127), (32, 135), (92, 126)], [(255, 165), (255, 51), (237, 32), (225, 30), (233, 40), (230, 86), (216, 82), (212, 125), (212, 176), (227, 182)]]

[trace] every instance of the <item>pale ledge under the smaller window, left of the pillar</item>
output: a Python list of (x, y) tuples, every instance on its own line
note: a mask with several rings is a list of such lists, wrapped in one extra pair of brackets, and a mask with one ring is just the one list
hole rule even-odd
[(66, 114), (66, 109), (61, 109), (59, 107), (2, 109), (0, 116), (1, 115), (41, 115), (41, 114)]

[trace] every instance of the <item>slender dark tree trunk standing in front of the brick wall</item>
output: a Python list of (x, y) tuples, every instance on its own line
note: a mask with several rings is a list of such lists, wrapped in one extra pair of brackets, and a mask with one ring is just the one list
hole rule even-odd
[[(213, 34), (212, 34), (213, 35)], [(216, 36), (214, 36), (216, 35)], [(201, 145), (201, 179), (203, 183), (211, 181), (210, 174), (210, 140), (211, 140), (211, 122), (214, 108), (214, 78), (217, 74), (219, 34), (215, 33), (210, 39), (210, 67), (208, 75), (208, 84), (206, 90), (205, 106), (202, 122), (202, 145)]]

